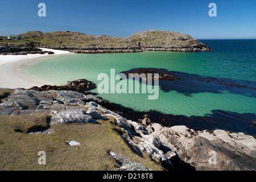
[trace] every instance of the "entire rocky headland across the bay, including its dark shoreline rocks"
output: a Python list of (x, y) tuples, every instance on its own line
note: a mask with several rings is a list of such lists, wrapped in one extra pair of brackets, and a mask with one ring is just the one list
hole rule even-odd
[[(11, 43), (7, 40), (0, 41), (0, 53), (15, 49), (10, 47), (22, 47), (30, 45), (35, 48), (60, 49), (75, 53), (129, 53), (142, 51), (179, 51), (199, 52), (213, 51), (207, 45), (191, 36), (172, 31), (148, 30), (138, 32), (126, 38), (112, 36), (94, 36), (72, 31), (40, 32), (28, 31), (20, 34), (22, 43)], [(25, 46), (26, 47), (26, 46)], [(16, 50), (17, 52), (24, 52)], [(28, 53), (28, 52), (27, 52)]]

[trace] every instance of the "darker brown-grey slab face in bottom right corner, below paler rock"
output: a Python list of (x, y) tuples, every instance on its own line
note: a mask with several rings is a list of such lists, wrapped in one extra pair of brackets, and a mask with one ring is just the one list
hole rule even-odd
[[(255, 158), (246, 155), (242, 152), (232, 151), (224, 147), (225, 142), (215, 146), (207, 138), (196, 137), (193, 138), (195, 144), (190, 148), (188, 160), (197, 170), (224, 170), (224, 171), (255, 171)], [(210, 152), (216, 154), (216, 163), (210, 164)], [(200, 156), (200, 157), (198, 157)]]

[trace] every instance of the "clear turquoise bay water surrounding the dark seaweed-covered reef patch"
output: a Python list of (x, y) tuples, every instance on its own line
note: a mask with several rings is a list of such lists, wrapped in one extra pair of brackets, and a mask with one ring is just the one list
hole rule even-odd
[[(231, 78), (242, 84), (247, 81), (256, 88), (256, 40), (201, 40), (213, 52), (139, 52), (109, 54), (75, 54), (47, 57), (20, 68), (20, 71), (38, 81), (64, 85), (67, 81), (86, 78), (96, 85), (100, 73), (110, 75), (133, 68), (164, 68), (168, 71), (189, 73), (201, 77)], [(118, 82), (118, 81), (117, 81)], [(187, 117), (212, 114), (213, 110), (256, 114), (256, 90), (216, 87), (214, 92), (201, 86), (202, 92), (164, 90), (159, 87), (157, 100), (148, 100), (148, 94), (99, 94), (102, 98), (135, 110), (158, 110), (166, 114)], [(97, 92), (97, 89), (91, 90)], [(256, 119), (256, 118), (255, 118)]]

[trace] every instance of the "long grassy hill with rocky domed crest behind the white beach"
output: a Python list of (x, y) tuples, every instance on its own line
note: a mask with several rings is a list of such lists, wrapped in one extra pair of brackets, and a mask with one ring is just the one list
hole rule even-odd
[[(53, 31), (45, 33), (40, 31), (28, 31), (19, 36), (22, 37), (22, 40), (7, 40), (6, 38), (5, 40), (0, 40), (0, 46), (72, 47), (76, 49), (134, 47), (191, 49), (196, 47), (199, 48), (199, 51), (200, 49), (204, 49), (203, 51), (211, 51), (210, 48), (199, 40), (193, 39), (189, 35), (172, 31), (148, 30), (138, 32), (126, 38), (106, 35), (94, 36), (72, 31)], [(191, 50), (195, 51), (193, 49)], [(189, 51), (189, 49), (185, 51)]]

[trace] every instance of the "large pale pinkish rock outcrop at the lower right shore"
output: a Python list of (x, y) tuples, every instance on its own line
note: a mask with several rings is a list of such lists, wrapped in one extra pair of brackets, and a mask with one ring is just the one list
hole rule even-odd
[(147, 130), (196, 170), (256, 169), (256, 139), (250, 135), (195, 131), (186, 126), (162, 127), (158, 123), (152, 123)]

